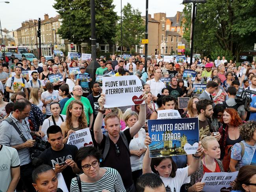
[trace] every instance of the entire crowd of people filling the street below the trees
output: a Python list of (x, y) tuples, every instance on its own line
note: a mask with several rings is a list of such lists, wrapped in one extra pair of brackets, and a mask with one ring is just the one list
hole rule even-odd
[[(237, 66), (225, 57), (204, 57), (189, 65), (161, 55), (146, 65), (140, 55), (97, 61), (96, 76), (138, 76), (145, 104), (104, 108), (102, 81), (80, 78), (89, 75), (89, 61), (56, 56), (46, 62), (41, 56), (32, 63), (13, 58), (8, 66), (0, 60), (0, 191), (199, 192), (204, 173), (236, 171), (233, 191), (256, 191), (256, 166), (250, 165), (256, 149), (254, 61)], [(79, 74), (70, 72), (76, 66)], [(195, 79), (183, 78), (186, 69), (197, 72)], [(24, 70), (37, 71), (30, 80)], [(50, 82), (51, 74), (63, 79)], [(206, 89), (195, 93), (195, 84)], [(189, 97), (185, 109), (178, 97)], [(147, 120), (168, 109), (198, 118), (196, 154), (149, 157)], [(70, 134), (87, 127), (93, 146), (67, 144)]]

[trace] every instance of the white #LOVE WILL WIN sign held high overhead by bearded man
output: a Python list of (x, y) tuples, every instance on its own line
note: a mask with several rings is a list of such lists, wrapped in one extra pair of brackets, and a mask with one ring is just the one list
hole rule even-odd
[(139, 105), (145, 103), (141, 80), (138, 76), (102, 78), (102, 92), (106, 94), (105, 108)]

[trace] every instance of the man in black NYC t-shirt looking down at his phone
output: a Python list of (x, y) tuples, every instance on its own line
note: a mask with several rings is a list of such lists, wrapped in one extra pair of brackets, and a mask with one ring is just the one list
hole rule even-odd
[[(71, 179), (76, 177), (76, 174), (81, 173), (81, 170), (74, 162), (76, 151), (78, 148), (74, 145), (63, 144), (63, 135), (61, 128), (57, 125), (50, 126), (47, 129), (48, 142), (51, 147), (45, 150), (39, 156), (44, 164), (55, 167), (56, 173), (62, 173), (67, 188), (70, 188)], [(65, 162), (63, 165), (60, 163)]]

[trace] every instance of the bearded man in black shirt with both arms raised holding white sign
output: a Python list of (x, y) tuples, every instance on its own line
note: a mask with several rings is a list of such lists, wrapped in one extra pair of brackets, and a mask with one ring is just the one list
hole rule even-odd
[[(146, 100), (147, 95), (145, 94), (142, 100)], [(98, 109), (98, 115), (94, 123), (94, 137), (99, 145), (102, 154), (104, 154), (104, 148), (106, 144), (106, 136), (102, 134), (102, 120), (103, 114), (106, 112), (104, 108), (105, 104), (105, 94), (101, 94), (98, 103), (100, 108)], [(134, 135), (141, 129), (145, 124), (146, 120), (146, 107), (145, 104), (140, 105), (139, 118), (134, 126), (124, 130), (124, 137), (126, 138), (128, 144), (134, 137)], [(116, 169), (122, 177), (124, 187), (127, 192), (135, 192), (135, 187), (132, 182), (132, 168), (130, 162), (130, 151), (126, 148), (123, 138), (120, 134), (120, 119), (115, 113), (108, 113), (104, 119), (105, 128), (108, 130), (109, 137), (109, 150), (106, 158), (103, 159), (101, 166), (111, 167)], [(104, 155), (103, 155), (104, 156)], [(104, 158), (104, 157), (103, 157)]]

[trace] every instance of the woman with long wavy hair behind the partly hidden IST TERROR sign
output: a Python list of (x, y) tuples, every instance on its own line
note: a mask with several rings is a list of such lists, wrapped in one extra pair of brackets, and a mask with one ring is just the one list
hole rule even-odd
[(83, 103), (73, 100), (67, 107), (66, 120), (61, 124), (63, 143), (67, 143), (70, 133), (75, 133), (87, 127), (87, 119), (83, 110)]

